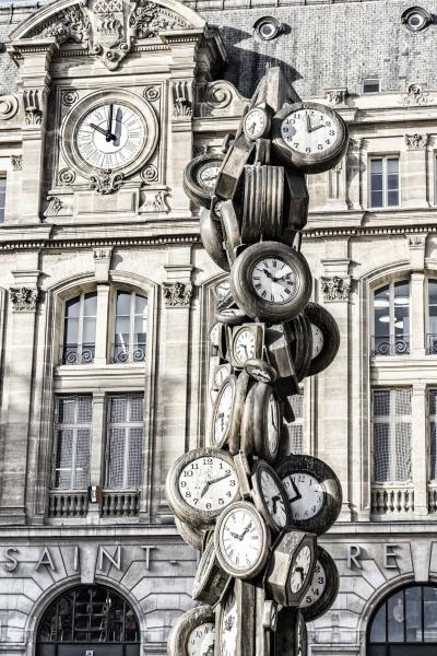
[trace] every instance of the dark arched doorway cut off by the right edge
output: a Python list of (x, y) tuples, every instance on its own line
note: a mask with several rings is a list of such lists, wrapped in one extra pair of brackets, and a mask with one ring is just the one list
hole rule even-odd
[(367, 656), (436, 656), (437, 586), (409, 585), (377, 607), (367, 630)]

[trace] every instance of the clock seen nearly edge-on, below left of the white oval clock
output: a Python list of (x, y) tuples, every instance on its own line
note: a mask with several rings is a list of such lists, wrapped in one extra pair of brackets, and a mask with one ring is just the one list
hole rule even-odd
[(222, 598), (228, 583), (228, 574), (223, 572), (215, 558), (214, 539), (211, 535), (192, 583), (192, 598), (196, 601), (215, 606)]

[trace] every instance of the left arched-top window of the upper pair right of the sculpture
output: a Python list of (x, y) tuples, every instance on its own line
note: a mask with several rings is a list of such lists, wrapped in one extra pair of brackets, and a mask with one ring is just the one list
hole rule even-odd
[(410, 282), (401, 280), (374, 294), (374, 355), (410, 353)]

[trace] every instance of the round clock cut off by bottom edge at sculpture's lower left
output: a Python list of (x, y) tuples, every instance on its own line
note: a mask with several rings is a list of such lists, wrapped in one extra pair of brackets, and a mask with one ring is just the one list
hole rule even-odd
[(211, 606), (198, 606), (176, 620), (167, 642), (168, 656), (213, 656), (215, 613)]

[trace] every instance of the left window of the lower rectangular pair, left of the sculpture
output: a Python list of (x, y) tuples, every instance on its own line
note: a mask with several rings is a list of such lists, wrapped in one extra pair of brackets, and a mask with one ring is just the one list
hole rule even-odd
[(57, 398), (52, 488), (84, 490), (88, 485), (91, 422), (91, 397)]

